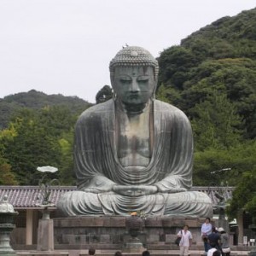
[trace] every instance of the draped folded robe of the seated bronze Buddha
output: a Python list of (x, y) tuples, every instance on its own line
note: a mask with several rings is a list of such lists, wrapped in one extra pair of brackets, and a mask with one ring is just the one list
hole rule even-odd
[[(186, 115), (176, 107), (154, 100), (154, 146), (148, 166), (126, 168), (118, 159), (115, 142), (116, 108), (113, 100), (82, 113), (75, 129), (74, 164), (79, 191), (61, 197), (57, 207), (66, 215), (125, 215), (143, 211), (155, 215), (212, 216), (210, 198), (192, 186), (193, 137)], [(152, 195), (127, 196), (90, 193), (92, 178), (102, 183), (155, 185)], [(99, 184), (100, 184), (99, 183)], [(176, 191), (177, 190), (177, 191)]]

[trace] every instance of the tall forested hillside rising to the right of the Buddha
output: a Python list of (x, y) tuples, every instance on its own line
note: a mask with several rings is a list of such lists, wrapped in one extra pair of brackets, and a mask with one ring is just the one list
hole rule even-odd
[(201, 28), (165, 49), (159, 63), (158, 98), (192, 123), (194, 184), (236, 186), (230, 215), (255, 214), (256, 9)]

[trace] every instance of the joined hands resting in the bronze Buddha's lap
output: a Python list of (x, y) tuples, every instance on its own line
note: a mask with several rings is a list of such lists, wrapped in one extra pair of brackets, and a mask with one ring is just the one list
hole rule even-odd
[(157, 192), (157, 187), (154, 185), (113, 185), (113, 192), (128, 196), (152, 195)]

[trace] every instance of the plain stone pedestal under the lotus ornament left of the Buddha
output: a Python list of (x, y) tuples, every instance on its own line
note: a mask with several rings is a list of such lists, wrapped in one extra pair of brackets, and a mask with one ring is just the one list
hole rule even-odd
[(38, 251), (54, 250), (54, 231), (52, 219), (39, 219), (38, 224)]

